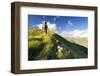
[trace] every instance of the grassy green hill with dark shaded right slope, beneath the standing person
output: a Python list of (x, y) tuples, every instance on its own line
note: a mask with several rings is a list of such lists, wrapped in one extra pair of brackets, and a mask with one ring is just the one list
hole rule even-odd
[(28, 60), (87, 58), (88, 49), (48, 31), (29, 28)]

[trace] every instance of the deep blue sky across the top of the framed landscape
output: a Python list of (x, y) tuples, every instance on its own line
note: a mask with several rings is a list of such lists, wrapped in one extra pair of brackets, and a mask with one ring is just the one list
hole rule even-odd
[(83, 31), (86, 34), (88, 29), (88, 17), (28, 15), (29, 27), (38, 29), (43, 21), (48, 22), (48, 27), (52, 27), (51, 29), (55, 28), (54, 31), (57, 33), (66, 32), (67, 35), (71, 32), (75, 33), (75, 31)]

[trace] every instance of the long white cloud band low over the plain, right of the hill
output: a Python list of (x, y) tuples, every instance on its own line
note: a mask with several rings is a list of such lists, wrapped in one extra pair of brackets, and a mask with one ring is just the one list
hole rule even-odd
[(73, 30), (73, 31), (62, 31), (59, 35), (63, 37), (74, 37), (74, 38), (87, 38), (87, 30)]

